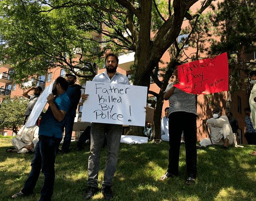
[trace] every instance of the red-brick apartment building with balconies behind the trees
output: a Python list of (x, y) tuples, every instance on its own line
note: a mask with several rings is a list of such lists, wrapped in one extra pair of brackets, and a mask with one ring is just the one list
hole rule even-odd
[[(198, 1), (194, 6), (192, 7), (191, 11), (195, 11), (197, 8), (200, 7), (200, 2)], [(217, 2), (216, 2), (217, 3)], [(207, 10), (206, 10), (207, 12)], [(183, 27), (186, 27), (188, 25), (188, 21), (185, 20), (183, 23)], [(93, 32), (93, 37), (97, 38), (97, 40), (101, 40), (101, 35)], [(181, 35), (181, 37), (184, 37)], [(184, 48), (184, 52), (186, 54), (193, 54), (194, 49), (187, 46)], [(255, 59), (254, 52), (252, 55), (243, 55), (243, 59)], [(162, 59), (163, 63), (170, 61), (169, 52), (165, 52)], [(119, 56), (119, 65), (118, 65), (118, 72), (127, 75), (132, 73), (130, 70), (130, 65), (132, 65), (134, 62), (134, 52), (129, 52), (128, 54), (123, 54)], [(159, 68), (163, 68), (163, 63), (159, 63)], [(104, 69), (98, 69), (98, 73), (103, 72)], [(10, 74), (12, 73), (12, 66), (9, 64), (1, 64), (0, 65), (0, 102), (7, 96), (10, 95), (11, 97), (14, 96), (21, 96), (24, 92), (24, 89), (22, 86), (16, 85), (11, 79)], [(54, 68), (51, 70), (48, 70), (45, 75), (38, 75), (36, 80), (30, 80), (26, 83), (23, 83), (23, 86), (29, 87), (33, 85), (41, 86), (43, 89), (50, 85), (50, 83), (56, 79), (58, 76), (64, 76), (65, 70), (63, 68)], [(247, 75), (244, 74), (244, 72), (240, 72), (240, 79), (243, 81)], [(159, 92), (159, 87), (155, 83), (151, 83), (150, 85), (150, 91)], [(233, 117), (237, 119), (239, 123), (239, 142), (246, 144), (246, 139), (244, 138), (244, 132), (245, 132), (245, 123), (244, 118), (245, 114), (243, 112), (244, 108), (248, 107), (248, 99), (249, 99), (249, 93), (247, 91), (246, 85), (242, 85), (241, 89), (239, 91), (236, 91), (231, 96), (231, 104), (230, 109), (233, 113)], [(149, 95), (150, 97), (151, 95)], [(223, 108), (223, 114), (225, 114), (225, 108), (227, 105), (227, 99), (228, 99), (228, 93), (222, 92), (222, 93), (215, 93), (211, 95), (198, 95), (197, 97), (197, 111), (198, 111), (198, 119), (197, 119), (197, 136), (198, 141), (200, 141), (202, 138), (207, 137), (207, 131), (206, 127), (203, 125), (202, 120), (208, 119), (211, 117), (211, 110), (213, 109), (213, 105), (219, 104)], [(169, 103), (168, 101), (164, 101), (163, 104), (163, 110), (162, 110), (162, 116), (164, 116), (164, 108), (168, 107)], [(81, 105), (78, 107), (77, 116), (75, 119), (75, 122), (78, 122), (81, 116)], [(153, 109), (151, 109), (150, 114), (147, 114), (147, 121), (153, 122)], [(186, 122), (184, 122), (184, 126), (186, 126)], [(127, 127), (125, 127), (127, 129)], [(124, 130), (125, 132), (125, 130)], [(0, 130), (0, 135), (12, 135), (12, 130)], [(78, 135), (79, 133), (73, 134), (73, 136)]]

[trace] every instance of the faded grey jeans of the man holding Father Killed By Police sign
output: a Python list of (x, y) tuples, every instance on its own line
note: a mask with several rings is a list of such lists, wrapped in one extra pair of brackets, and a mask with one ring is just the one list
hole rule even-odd
[(107, 132), (107, 162), (102, 186), (112, 186), (116, 171), (122, 125), (91, 123), (91, 147), (88, 159), (88, 186), (98, 187), (99, 158)]

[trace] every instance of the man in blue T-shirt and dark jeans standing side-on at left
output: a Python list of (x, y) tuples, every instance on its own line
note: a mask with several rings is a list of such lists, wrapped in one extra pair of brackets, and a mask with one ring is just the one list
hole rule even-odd
[(70, 100), (66, 95), (68, 82), (58, 77), (52, 87), (52, 93), (47, 97), (49, 107), (41, 119), (39, 126), (39, 142), (35, 146), (35, 156), (31, 161), (31, 172), (21, 191), (12, 198), (33, 193), (40, 171), (44, 175), (39, 201), (50, 201), (54, 187), (54, 163), (56, 149), (62, 139), (64, 118), (70, 107)]

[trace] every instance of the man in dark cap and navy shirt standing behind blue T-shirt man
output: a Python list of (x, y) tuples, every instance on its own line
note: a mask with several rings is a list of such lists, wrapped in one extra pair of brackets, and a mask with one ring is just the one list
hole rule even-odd
[(74, 120), (76, 117), (76, 108), (78, 107), (78, 103), (81, 97), (81, 85), (77, 85), (76, 83), (76, 75), (66, 74), (68, 81), (68, 90), (66, 94), (70, 99), (70, 109), (65, 117), (65, 137), (62, 144), (62, 154), (69, 152), (69, 146), (71, 142), (72, 132)]

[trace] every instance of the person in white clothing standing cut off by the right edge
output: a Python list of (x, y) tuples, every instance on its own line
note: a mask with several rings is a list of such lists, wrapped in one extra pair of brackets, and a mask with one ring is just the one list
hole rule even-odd
[(252, 126), (256, 129), (256, 71), (252, 71), (249, 74), (250, 83), (253, 84), (252, 91), (250, 93), (249, 104), (251, 108), (250, 118)]

